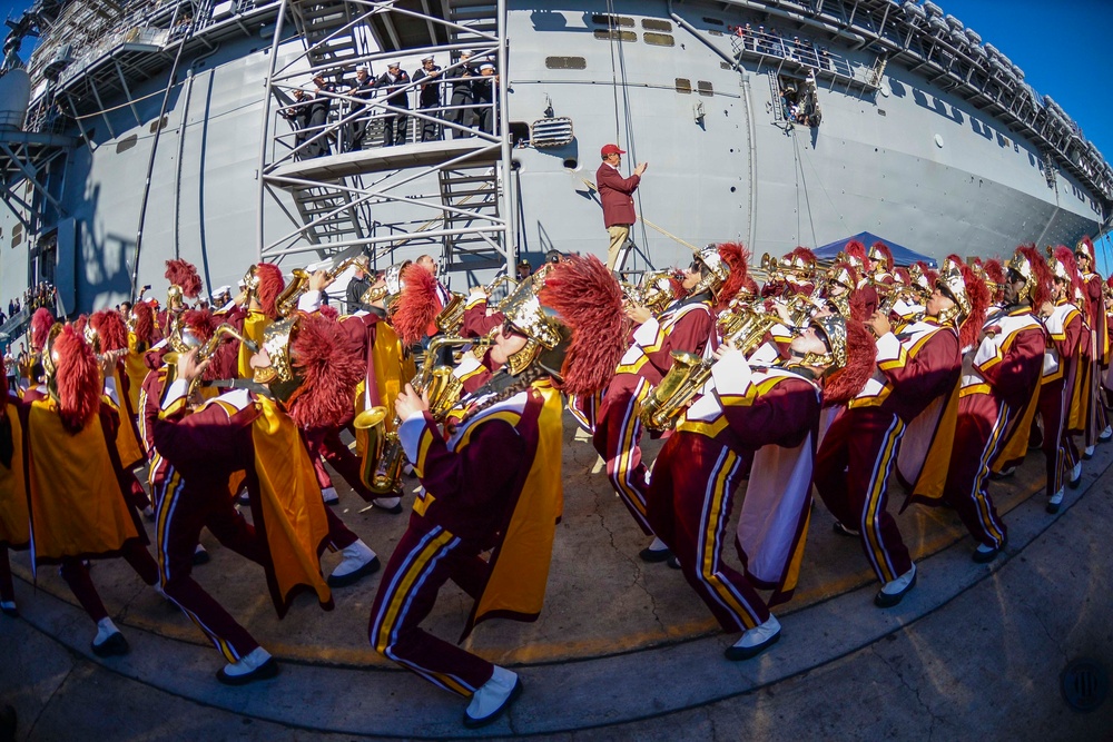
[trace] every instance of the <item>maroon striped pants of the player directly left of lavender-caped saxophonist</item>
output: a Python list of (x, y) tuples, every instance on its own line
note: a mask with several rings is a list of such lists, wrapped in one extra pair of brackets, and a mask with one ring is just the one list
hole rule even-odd
[(607, 478), (647, 536), (653, 531), (646, 520), (649, 489), (646, 464), (641, 461), (641, 419), (638, 413), (649, 394), (649, 383), (634, 374), (612, 382), (595, 417), (592, 445), (607, 463)]

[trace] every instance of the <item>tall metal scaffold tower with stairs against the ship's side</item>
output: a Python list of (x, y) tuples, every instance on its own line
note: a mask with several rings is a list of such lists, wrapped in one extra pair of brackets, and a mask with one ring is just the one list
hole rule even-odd
[[(328, 120), (309, 135), (332, 140), (332, 154), (299, 159), (305, 151), (295, 151), (297, 132), (277, 115), (294, 105), (293, 91), (317, 72), (326, 80), (351, 81), (357, 65), (368, 65), (374, 76), (388, 59), (416, 67), (420, 57), (432, 53), (446, 73), (460, 65), (463, 48), (504, 63), (505, 0), (285, 0), (279, 18), (293, 19), (305, 51), (294, 60), (286, 57), (279, 67), (279, 23), (259, 155), (259, 258), (328, 257), (359, 246), (382, 268), (414, 258), (417, 250), (439, 248), (447, 271), (512, 271), (516, 256), (503, 188), (510, 164), (505, 133), (471, 131), (467, 137), (380, 147), (383, 122), (397, 109), (385, 97), (355, 99), (341, 89), (332, 96)], [(506, 76), (500, 86), (499, 98), (505, 100)], [(415, 86), (408, 95), (415, 103)], [(443, 105), (449, 100), (445, 90)], [(504, 112), (495, 112), (502, 119), (496, 130), (506, 131)], [(411, 137), (420, 130), (422, 115), (411, 111)], [(336, 145), (352, 140), (356, 122), (367, 127), (363, 148), (342, 151)], [(449, 137), (452, 125), (442, 125)], [(274, 228), (278, 212), (292, 224), (289, 231)]]

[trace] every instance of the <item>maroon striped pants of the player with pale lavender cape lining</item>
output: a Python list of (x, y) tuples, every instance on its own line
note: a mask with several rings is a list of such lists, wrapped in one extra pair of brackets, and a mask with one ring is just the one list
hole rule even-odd
[[(768, 606), (746, 575), (722, 562), (733, 494), (749, 458), (698, 433), (674, 433), (657, 458), (649, 488), (653, 533), (680, 560), (688, 584), (728, 632), (769, 620)], [(745, 564), (746, 555), (739, 556)]]

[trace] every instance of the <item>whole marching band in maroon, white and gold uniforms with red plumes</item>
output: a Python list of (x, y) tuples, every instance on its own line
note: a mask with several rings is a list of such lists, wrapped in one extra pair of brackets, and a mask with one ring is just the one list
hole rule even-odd
[[(982, 563), (1007, 544), (989, 481), (1030, 448), (1046, 459), (1046, 509), (1058, 512), (1083, 461), (1113, 437), (1103, 393), (1113, 304), (1094, 257), (1084, 239), (1004, 261), (951, 256), (935, 270), (894, 266), (883, 244), (851, 243), (824, 266), (799, 247), (764, 260), (759, 287), (741, 246), (723, 244), (631, 287), (593, 257), (552, 254), (532, 275), (520, 266), (498, 305), (483, 287), (447, 291), (430, 256), (374, 277), (361, 258), (346, 315), (324, 303), (331, 274), (290, 294), (270, 264), (252, 266), (236, 298), (221, 287), (213, 308), (197, 308), (196, 268), (168, 261), (166, 306), (140, 295), (70, 323), (47, 309), (32, 320), (36, 355), (9, 372), (0, 416), (0, 609), (18, 615), (8, 550), (31, 546), (38, 567), (60, 565), (96, 624), (92, 652), (125, 653), (88, 570), (122, 556), (223, 654), (221, 682), (273, 677), (274, 657), (194, 580), (207, 558), (201, 530), (263, 565), (279, 616), (305, 588), (332, 607), (333, 590), (381, 562), (325, 506), (338, 495), (323, 463), (397, 514), (411, 504), (367, 467), (393, 439), (422, 488), (383, 570), (370, 642), (469, 698), (466, 725), (490, 723), (520, 679), (421, 623), (449, 580), (475, 600), (465, 634), (487, 617), (538, 617), (567, 409), (652, 538), (641, 558), (680, 570), (723, 630), (741, 633), (726, 656), (745, 660), (780, 637), (770, 606), (792, 596), (812, 492), (836, 533), (860, 542), (883, 609), (916, 584), (887, 506), (898, 487), (905, 506), (954, 507)], [(219, 325), (233, 332), (221, 337)], [(418, 378), (411, 350), (436, 337), (474, 344), (459, 359), (436, 355), (462, 387), (444, 408), (430, 385), (407, 384)], [(676, 388), (681, 364), (706, 373), (689, 376), (687, 396), (658, 395)], [(356, 425), (378, 407), (382, 427)], [(647, 428), (667, 437), (652, 476)], [(731, 542), (742, 571), (722, 558)], [(343, 556), (328, 577), (326, 547)]]

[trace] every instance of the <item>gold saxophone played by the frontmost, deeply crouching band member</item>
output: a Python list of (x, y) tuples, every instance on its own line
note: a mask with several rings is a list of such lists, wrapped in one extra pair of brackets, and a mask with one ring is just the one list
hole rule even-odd
[[(430, 414), (443, 423), (460, 399), (463, 382), (455, 377), (451, 366), (434, 366), (437, 353), (449, 346), (467, 345), (471, 338), (435, 337), (425, 352), (425, 364), (410, 382), (418, 395), (429, 393)], [(403, 451), (398, 437), (402, 421), (397, 414), (391, 429), (386, 429), (386, 407), (380, 405), (355, 416), (352, 425), (368, 432), (367, 448), (363, 454), (359, 478), (377, 497), (387, 497), (402, 488)]]

